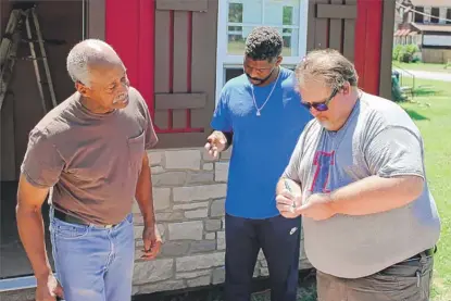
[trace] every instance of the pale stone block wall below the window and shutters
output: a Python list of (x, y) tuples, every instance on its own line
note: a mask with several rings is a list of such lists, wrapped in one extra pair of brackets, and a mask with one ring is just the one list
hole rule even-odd
[[(142, 217), (136, 204), (134, 294), (200, 287), (224, 281), (224, 201), (228, 159), (217, 161), (203, 149), (149, 152), (161, 255), (141, 261)], [(302, 248), (303, 250), (303, 248)], [(303, 251), (300, 268), (309, 268)], [(267, 276), (262, 253), (254, 276)]]

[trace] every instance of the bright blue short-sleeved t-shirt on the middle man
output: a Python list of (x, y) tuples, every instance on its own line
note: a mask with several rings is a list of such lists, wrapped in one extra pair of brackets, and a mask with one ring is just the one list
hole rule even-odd
[[(256, 115), (252, 98), (262, 108)], [(278, 215), (276, 185), (288, 165), (305, 124), (312, 118), (301, 105), (295, 90), (292, 71), (280, 68), (278, 80), (265, 87), (252, 86), (246, 74), (224, 86), (213, 114), (215, 130), (233, 131), (233, 150), (228, 171), (227, 214), (245, 218), (267, 218)]]

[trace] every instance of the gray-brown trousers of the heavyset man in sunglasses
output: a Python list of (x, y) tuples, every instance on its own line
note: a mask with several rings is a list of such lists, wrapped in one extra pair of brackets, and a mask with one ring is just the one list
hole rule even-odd
[(423, 255), (374, 275), (343, 279), (316, 272), (318, 301), (428, 301), (434, 258)]

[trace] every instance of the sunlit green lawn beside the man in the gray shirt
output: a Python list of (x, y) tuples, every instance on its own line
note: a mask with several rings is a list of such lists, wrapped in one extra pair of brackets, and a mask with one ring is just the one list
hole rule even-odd
[(426, 173), (442, 223), (435, 259), (433, 301), (451, 300), (451, 83), (418, 79), (435, 95), (419, 96), (402, 103), (417, 124), (425, 141)]

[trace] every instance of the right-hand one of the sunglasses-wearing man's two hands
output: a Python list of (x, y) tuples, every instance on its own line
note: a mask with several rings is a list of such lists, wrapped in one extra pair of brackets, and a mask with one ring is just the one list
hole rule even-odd
[(326, 193), (310, 196), (305, 204), (297, 208), (296, 212), (314, 221), (327, 220), (337, 214), (331, 205), (329, 195)]

